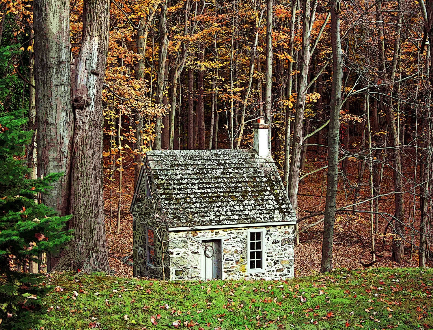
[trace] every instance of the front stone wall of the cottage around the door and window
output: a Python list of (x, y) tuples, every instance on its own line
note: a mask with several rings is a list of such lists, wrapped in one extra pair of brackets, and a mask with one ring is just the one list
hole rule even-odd
[[(265, 228), (265, 272), (248, 274), (247, 230)], [(170, 232), (170, 279), (199, 280), (201, 239), (222, 240), (222, 277), (279, 279), (294, 276), (294, 226)]]

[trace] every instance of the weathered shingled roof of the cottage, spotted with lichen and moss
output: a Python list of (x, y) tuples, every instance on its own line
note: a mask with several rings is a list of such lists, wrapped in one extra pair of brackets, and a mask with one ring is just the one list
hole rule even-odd
[(296, 222), (273, 159), (254, 149), (148, 151), (145, 168), (169, 228)]

